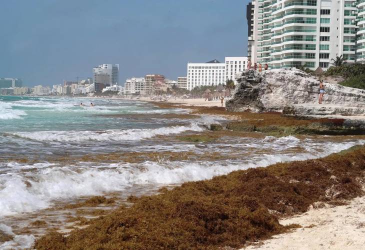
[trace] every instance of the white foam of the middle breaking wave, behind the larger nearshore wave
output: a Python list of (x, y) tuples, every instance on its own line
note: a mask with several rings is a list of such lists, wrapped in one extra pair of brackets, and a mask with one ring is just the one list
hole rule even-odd
[(141, 140), (156, 135), (168, 135), (184, 131), (202, 131), (203, 128), (197, 124), (189, 126), (170, 126), (153, 129), (109, 129), (104, 131), (37, 131), (37, 132), (15, 132), (10, 133), (27, 139), (39, 141), (119, 141), (119, 140)]

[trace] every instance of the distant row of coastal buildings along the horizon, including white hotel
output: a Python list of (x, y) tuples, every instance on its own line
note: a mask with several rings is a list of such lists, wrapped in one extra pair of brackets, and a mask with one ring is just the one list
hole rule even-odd
[(119, 64), (109, 63), (93, 67), (92, 78), (63, 80), (63, 83), (53, 84), (51, 88), (35, 85), (31, 88), (19, 89), (18, 86), (21, 86), (21, 79), (0, 78), (0, 83), (3, 86), (9, 86), (6, 90), (0, 87), (2, 89), (0, 93), (83, 95), (118, 91), (121, 94), (153, 95), (155, 93), (165, 92), (173, 86), (191, 90), (194, 87), (200, 87), (202, 85), (223, 85), (229, 79), (232, 79), (236, 83), (235, 74), (244, 70), (246, 66), (247, 57), (244, 56), (225, 57), (224, 62), (219, 62), (216, 59), (206, 63), (188, 62), (186, 76), (178, 76), (177, 80), (167, 79), (163, 74), (145, 74), (143, 77), (128, 78), (125, 80), (124, 86), (121, 86), (118, 84)]

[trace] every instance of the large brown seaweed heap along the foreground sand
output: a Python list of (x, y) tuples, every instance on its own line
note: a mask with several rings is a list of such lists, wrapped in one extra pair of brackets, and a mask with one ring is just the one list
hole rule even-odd
[[(316, 201), (362, 195), (365, 147), (187, 182), (90, 220), (68, 236), (49, 232), (36, 249), (215, 249), (287, 231), (278, 218)], [(295, 225), (292, 225), (294, 227)]]

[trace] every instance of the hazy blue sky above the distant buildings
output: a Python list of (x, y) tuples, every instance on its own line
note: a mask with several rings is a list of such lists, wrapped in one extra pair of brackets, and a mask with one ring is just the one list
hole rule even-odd
[(0, 77), (59, 84), (119, 63), (127, 77), (247, 54), (249, 0), (3, 0)]

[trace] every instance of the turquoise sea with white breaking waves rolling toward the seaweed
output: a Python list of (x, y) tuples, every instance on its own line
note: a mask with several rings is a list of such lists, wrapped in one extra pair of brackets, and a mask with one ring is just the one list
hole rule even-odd
[[(224, 122), (223, 117), (212, 115), (194, 119), (163, 115), (188, 111), (136, 100), (0, 96), (0, 233), (13, 235), (12, 230), (30, 223), (34, 213), (80, 197), (143, 194), (237, 169), (323, 157), (365, 142), (350, 136), (223, 136), (206, 143), (183, 142), (174, 135), (204, 131), (211, 123)], [(50, 160), (156, 151), (235, 157), (211, 161), (153, 158), (139, 163)], [(34, 240), (32, 234), (17, 236), (11, 242), (0, 242), (0, 248), (24, 248)]]

